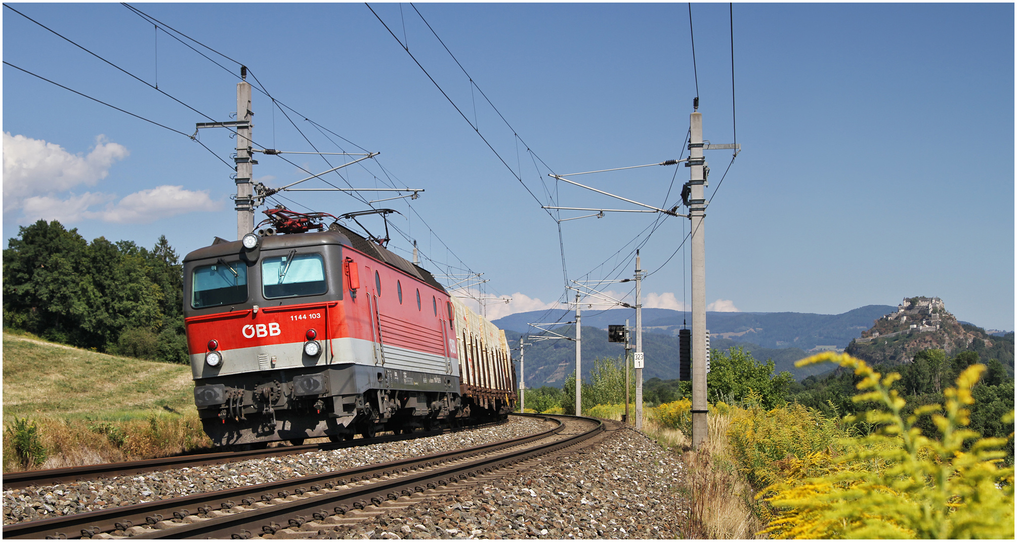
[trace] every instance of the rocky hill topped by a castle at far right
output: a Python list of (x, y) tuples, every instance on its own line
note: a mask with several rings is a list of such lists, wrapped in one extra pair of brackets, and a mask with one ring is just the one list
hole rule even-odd
[(993, 336), (959, 322), (937, 297), (904, 298), (896, 311), (876, 319), (845, 352), (873, 364), (897, 365), (910, 363), (916, 353), (931, 348), (948, 356), (974, 351), (982, 361), (1000, 360), (1013, 373), (1014, 334)]

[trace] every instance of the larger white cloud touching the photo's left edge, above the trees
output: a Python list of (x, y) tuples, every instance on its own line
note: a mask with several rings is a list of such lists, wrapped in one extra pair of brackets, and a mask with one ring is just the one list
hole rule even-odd
[[(95, 146), (81, 156), (72, 155), (56, 143), (4, 132), (4, 212), (20, 207), (33, 196), (53, 196), (80, 184), (94, 186), (109, 175), (115, 162), (128, 155), (125, 146), (108, 142), (105, 135), (96, 136)], [(33, 204), (38, 208), (40, 201)]]

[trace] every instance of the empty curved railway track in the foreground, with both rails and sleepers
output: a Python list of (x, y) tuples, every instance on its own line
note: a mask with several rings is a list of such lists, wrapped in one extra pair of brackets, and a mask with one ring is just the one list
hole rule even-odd
[(410, 460), (14, 524), (4, 527), (3, 537), (109, 538), (115, 533), (134, 538), (252, 538), (291, 528), (327, 528), (412, 502), (448, 484), (498, 476), (500, 469), (575, 445), (604, 429), (593, 418), (537, 417), (554, 427)]

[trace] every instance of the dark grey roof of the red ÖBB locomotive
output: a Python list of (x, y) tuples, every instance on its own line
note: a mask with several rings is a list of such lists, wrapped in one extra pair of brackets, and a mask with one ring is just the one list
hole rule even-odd
[[(374, 259), (383, 261), (388, 265), (406, 273), (407, 275), (416, 277), (441, 292), (445, 291), (444, 287), (434, 279), (434, 276), (420, 265), (407, 261), (406, 258), (396, 254), (383, 246), (378, 245), (377, 243), (374, 243), (373, 241), (364, 238), (360, 234), (357, 234), (340, 224), (333, 225), (333, 228), (336, 229), (324, 232), (263, 236), (260, 238), (260, 249), (274, 250), (278, 248), (296, 248), (300, 246), (346, 245), (350, 248), (363, 252)], [(187, 262), (195, 259), (219, 257), (228, 254), (239, 254), (243, 250), (244, 247), (240, 241), (227, 241), (221, 237), (216, 237), (211, 245), (189, 252), (186, 256), (184, 256), (184, 261)]]

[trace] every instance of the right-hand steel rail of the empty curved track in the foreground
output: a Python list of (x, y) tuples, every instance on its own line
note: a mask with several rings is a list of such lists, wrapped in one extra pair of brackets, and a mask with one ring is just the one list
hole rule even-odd
[[(433, 469), (421, 473), (410, 473), (392, 480), (378, 481), (358, 487), (343, 489), (338, 492), (326, 492), (299, 500), (292, 500), (266, 506), (236, 513), (230, 516), (216, 518), (179, 527), (164, 529), (155, 533), (145, 533), (133, 538), (253, 538), (262, 534), (275, 534), (282, 526), (291, 524), (291, 520), (302, 525), (308, 521), (308, 510), (313, 513), (315, 520), (324, 520), (330, 516), (346, 514), (352, 508), (365, 508), (368, 504), (381, 504), (386, 500), (396, 500), (401, 495), (412, 495), (423, 492), (424, 488), (436, 489), (459, 480), (467, 480), (478, 475), (508, 467), (520, 461), (542, 456), (563, 447), (571, 446), (590, 438), (604, 430), (601, 420), (586, 417), (572, 417), (577, 420), (594, 422), (594, 427), (571, 435), (561, 440), (549, 442), (537, 447), (517, 449), (491, 458), (479, 459), (465, 464)], [(559, 421), (560, 422), (560, 421)], [(564, 425), (559, 425), (563, 429)], [(281, 522), (281, 523), (277, 523)], [(275, 527), (274, 527), (275, 525)]]

